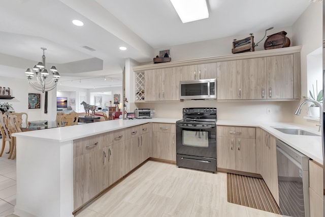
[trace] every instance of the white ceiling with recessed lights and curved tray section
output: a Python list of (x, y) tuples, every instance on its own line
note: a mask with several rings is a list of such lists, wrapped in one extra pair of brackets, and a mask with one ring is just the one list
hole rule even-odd
[[(46, 47), (47, 68), (57, 67), (62, 85), (121, 85), (125, 58), (148, 62), (155, 56), (154, 48), (291, 26), (310, 3), (207, 0), (207, 4), (208, 19), (183, 24), (168, 0), (1, 0), (0, 76), (24, 77), (26, 68), (41, 61), (40, 48)], [(84, 26), (73, 25), (73, 19)], [(119, 50), (120, 46), (127, 50)]]

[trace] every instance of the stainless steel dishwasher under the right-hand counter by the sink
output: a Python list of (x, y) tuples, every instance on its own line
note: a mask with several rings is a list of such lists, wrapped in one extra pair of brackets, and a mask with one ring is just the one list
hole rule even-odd
[(309, 217), (309, 158), (276, 141), (279, 205), (283, 215)]

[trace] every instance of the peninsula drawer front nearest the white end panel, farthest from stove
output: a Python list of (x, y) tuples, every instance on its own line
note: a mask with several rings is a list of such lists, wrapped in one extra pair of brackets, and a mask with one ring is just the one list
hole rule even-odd
[(73, 157), (77, 158), (84, 154), (90, 153), (92, 151), (99, 150), (106, 146), (107, 135), (99, 134), (95, 136), (89, 136), (82, 139), (76, 139), (73, 141)]

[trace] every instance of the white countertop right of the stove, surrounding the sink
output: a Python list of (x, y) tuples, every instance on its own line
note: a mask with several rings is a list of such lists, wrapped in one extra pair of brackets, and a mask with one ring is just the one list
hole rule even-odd
[[(243, 127), (260, 127), (263, 130), (269, 132), (276, 138), (282, 140), (284, 143), (302, 152), (309, 158), (313, 159), (319, 164), (323, 164), (322, 157), (322, 144), (321, 144), (321, 133), (313, 129), (307, 128), (306, 126), (297, 125), (296, 123), (285, 123), (285, 122), (249, 122), (249, 121), (236, 121), (236, 120), (218, 120), (217, 125), (224, 126), (243, 126)], [(279, 128), (295, 128), (306, 130), (311, 133), (315, 133), (320, 136), (303, 136), (303, 135), (290, 135), (282, 133), (272, 127)]]

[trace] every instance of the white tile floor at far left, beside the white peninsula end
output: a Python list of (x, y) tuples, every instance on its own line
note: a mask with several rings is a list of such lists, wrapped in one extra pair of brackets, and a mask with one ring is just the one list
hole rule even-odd
[[(6, 143), (7, 152), (9, 149)], [(16, 205), (16, 159), (8, 159), (9, 154), (0, 157), (0, 216), (7, 216), (14, 212)]]

